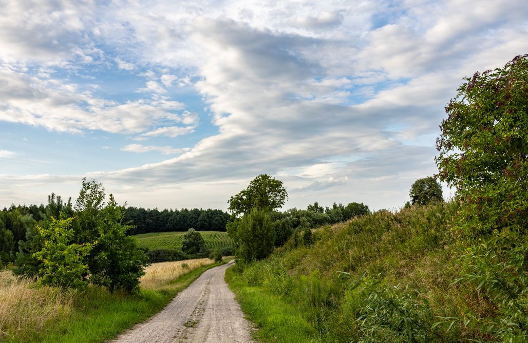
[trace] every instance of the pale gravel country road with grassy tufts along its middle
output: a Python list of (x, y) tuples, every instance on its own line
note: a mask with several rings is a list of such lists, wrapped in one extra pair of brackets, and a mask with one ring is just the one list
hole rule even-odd
[(250, 323), (224, 281), (232, 263), (205, 271), (165, 309), (112, 342), (251, 342)]

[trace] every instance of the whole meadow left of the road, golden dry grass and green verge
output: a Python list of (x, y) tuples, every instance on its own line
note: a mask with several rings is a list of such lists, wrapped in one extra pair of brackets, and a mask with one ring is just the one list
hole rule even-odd
[(138, 296), (37, 285), (0, 272), (0, 341), (101, 342), (162, 310), (214, 261), (196, 259), (148, 266)]

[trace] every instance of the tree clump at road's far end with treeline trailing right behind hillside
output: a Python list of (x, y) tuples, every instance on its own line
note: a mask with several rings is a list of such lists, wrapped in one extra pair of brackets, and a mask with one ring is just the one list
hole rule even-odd
[(227, 231), (235, 243), (237, 260), (248, 263), (266, 258), (274, 247), (284, 245), (291, 235), (298, 240), (304, 230), (303, 242), (312, 244), (309, 228), (349, 220), (370, 213), (363, 203), (347, 206), (334, 203), (323, 208), (317, 202), (306, 210), (296, 208), (285, 212), (275, 211), (284, 205), (287, 192), (282, 182), (262, 174), (254, 178), (248, 187), (229, 199), (232, 213)]

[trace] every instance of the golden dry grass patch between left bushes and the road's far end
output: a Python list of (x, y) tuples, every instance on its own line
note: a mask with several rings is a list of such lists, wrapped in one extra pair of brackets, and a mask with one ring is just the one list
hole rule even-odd
[(213, 263), (214, 261), (210, 259), (153, 263), (145, 269), (146, 274), (139, 279), (141, 288), (152, 290), (165, 288), (181, 275), (200, 268), (202, 265)]

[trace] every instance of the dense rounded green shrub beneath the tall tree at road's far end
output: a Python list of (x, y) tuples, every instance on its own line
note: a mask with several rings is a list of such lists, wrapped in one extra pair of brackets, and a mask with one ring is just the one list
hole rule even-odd
[(237, 260), (253, 262), (266, 258), (274, 249), (275, 230), (266, 209), (253, 208), (228, 225)]

